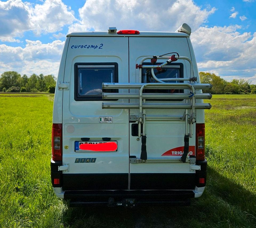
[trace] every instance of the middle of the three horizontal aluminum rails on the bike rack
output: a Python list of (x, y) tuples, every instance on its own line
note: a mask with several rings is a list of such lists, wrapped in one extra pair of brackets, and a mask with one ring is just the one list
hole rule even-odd
[[(190, 93), (142, 93), (143, 99), (191, 99)], [(211, 93), (196, 93), (195, 99), (211, 99)], [(102, 99), (139, 99), (139, 93), (102, 93)]]

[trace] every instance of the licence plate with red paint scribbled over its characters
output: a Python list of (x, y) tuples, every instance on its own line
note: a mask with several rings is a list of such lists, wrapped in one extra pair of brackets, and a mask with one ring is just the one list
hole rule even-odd
[(75, 152), (116, 152), (117, 141), (75, 141)]

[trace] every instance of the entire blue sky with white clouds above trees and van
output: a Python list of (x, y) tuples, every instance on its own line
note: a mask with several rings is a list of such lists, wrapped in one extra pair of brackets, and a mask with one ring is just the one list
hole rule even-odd
[(199, 71), (256, 84), (255, 10), (255, 0), (0, 1), (0, 74), (14, 70), (57, 76), (69, 32), (111, 26), (175, 31), (187, 23)]

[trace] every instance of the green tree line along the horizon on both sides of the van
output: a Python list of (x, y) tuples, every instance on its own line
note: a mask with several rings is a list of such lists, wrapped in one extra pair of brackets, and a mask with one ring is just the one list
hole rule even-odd
[[(256, 85), (249, 80), (233, 79), (230, 82), (211, 74), (209, 72), (199, 72), (201, 83), (213, 85), (212, 94), (256, 94)], [(21, 76), (16, 71), (6, 71), (0, 77), (0, 91), (2, 92), (55, 92), (56, 79), (52, 74), (26, 74)], [(203, 91), (207, 92), (207, 91)]]

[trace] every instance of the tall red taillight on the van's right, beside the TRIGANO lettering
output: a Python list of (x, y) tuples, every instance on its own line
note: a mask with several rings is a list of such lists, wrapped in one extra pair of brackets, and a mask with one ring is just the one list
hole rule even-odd
[(205, 124), (196, 124), (195, 151), (197, 160), (205, 160)]

